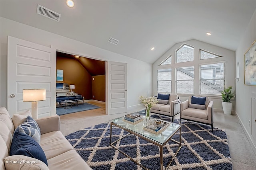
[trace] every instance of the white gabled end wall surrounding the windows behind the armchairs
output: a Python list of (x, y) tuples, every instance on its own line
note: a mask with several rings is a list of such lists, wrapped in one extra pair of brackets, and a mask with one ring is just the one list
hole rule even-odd
[[(175, 51), (183, 44), (190, 45), (194, 47), (194, 61), (185, 62), (185, 63), (175, 63)], [(199, 59), (199, 49), (212, 52), (214, 54), (220, 55), (222, 57), (213, 58), (213, 59)], [(164, 59), (172, 55), (172, 64), (158, 66)], [(220, 61), (225, 61), (225, 78), (226, 78), (226, 87), (233, 86), (233, 90), (235, 90), (235, 52), (224, 49), (215, 45), (211, 45), (208, 43), (204, 43), (202, 41), (198, 41), (195, 39), (184, 41), (175, 44), (172, 46), (162, 57), (160, 57), (153, 64), (153, 94), (156, 95), (156, 73), (158, 68), (172, 68), (172, 93), (175, 93), (175, 68), (183, 67), (183, 66), (194, 66), (194, 95), (199, 96), (199, 64), (211, 64)], [(178, 94), (180, 96), (180, 100), (184, 101), (189, 99), (190, 95)], [(221, 96), (212, 95), (209, 96), (210, 100), (214, 102), (214, 109), (222, 109)], [(233, 110), (235, 109), (235, 101), (233, 102)]]

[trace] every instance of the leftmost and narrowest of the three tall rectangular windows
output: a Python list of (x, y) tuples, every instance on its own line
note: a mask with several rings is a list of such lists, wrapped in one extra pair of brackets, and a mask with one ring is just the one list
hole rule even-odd
[(157, 91), (171, 93), (172, 69), (158, 69), (157, 70)]

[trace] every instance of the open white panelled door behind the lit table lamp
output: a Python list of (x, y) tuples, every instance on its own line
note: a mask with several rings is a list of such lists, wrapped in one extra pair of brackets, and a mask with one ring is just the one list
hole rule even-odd
[[(56, 114), (56, 50), (8, 36), (8, 103), (13, 114), (31, 110), (23, 102), (23, 89), (46, 89), (46, 100), (38, 102), (38, 117)], [(15, 96), (15, 97), (14, 97)]]

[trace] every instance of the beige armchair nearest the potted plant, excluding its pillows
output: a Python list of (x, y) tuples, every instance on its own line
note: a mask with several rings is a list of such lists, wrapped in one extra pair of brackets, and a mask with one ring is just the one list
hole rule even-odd
[(205, 105), (191, 104), (190, 100), (186, 100), (180, 104), (180, 123), (182, 119), (190, 120), (206, 125), (211, 125), (213, 131), (213, 101), (206, 97)]

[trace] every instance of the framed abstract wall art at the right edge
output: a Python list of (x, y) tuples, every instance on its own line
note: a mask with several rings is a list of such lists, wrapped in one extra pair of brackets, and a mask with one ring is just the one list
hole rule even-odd
[(244, 84), (256, 86), (256, 40), (244, 54)]

